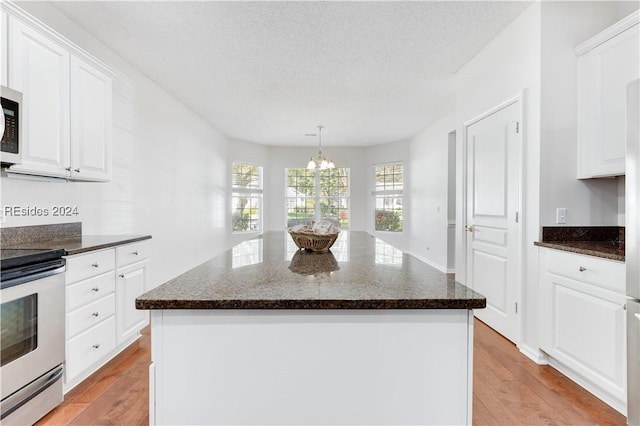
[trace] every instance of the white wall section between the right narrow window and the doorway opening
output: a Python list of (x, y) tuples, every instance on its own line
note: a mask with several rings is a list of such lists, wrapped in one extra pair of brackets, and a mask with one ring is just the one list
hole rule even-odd
[(449, 133), (456, 128), (455, 118), (451, 113), (409, 141), (409, 251), (442, 271), (447, 270)]

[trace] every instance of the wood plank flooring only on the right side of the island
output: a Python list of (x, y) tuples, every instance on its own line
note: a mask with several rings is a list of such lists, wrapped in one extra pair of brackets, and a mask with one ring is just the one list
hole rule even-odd
[(626, 425), (626, 418), (475, 321), (474, 425)]

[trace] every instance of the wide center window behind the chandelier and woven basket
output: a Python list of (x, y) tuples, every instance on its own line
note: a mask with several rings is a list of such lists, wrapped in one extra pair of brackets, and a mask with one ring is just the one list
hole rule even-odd
[(287, 169), (287, 227), (328, 220), (349, 227), (349, 168)]

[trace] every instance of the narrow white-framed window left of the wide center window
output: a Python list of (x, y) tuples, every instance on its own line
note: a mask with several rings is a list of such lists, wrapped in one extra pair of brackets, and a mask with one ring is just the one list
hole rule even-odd
[(231, 185), (233, 232), (259, 231), (262, 221), (262, 167), (233, 163)]

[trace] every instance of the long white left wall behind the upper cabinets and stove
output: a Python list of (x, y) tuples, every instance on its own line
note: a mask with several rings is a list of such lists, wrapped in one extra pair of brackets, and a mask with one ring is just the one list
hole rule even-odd
[(3, 226), (81, 221), (85, 234), (151, 234), (150, 287), (227, 246), (227, 141), (46, 3), (21, 7), (118, 75), (113, 81), (113, 180), (1, 178), (2, 206), (78, 206), (73, 218), (8, 217)]

